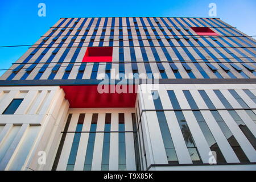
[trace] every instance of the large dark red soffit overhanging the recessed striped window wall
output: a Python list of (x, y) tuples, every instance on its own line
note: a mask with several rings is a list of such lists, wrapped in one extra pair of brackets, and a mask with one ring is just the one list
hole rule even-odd
[[(111, 85), (115, 90), (115, 85)], [(94, 107), (134, 107), (137, 97), (135, 89), (137, 85), (125, 85), (123, 89), (133, 90), (133, 93), (98, 93), (97, 85), (60, 86), (65, 92), (65, 99), (69, 101), (71, 108), (94, 108)], [(110, 86), (109, 86), (110, 91)]]

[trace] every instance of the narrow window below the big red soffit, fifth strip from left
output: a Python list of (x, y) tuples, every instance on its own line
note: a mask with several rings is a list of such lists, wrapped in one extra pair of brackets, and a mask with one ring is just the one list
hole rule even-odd
[(118, 169), (126, 170), (125, 114), (118, 114)]

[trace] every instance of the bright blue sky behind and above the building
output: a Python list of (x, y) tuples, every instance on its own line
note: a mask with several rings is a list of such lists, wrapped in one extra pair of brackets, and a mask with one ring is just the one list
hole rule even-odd
[[(209, 3), (216, 3), (217, 17), (247, 35), (256, 35), (255, 0), (1, 0), (0, 46), (34, 44), (63, 17), (176, 16), (209, 17)], [(46, 17), (38, 16), (38, 4), (46, 4)], [(0, 48), (0, 69), (7, 69), (28, 47)], [(0, 71), (0, 76), (5, 71)]]

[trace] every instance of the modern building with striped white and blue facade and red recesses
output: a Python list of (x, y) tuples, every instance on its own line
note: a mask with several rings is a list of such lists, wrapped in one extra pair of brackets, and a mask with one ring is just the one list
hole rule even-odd
[(255, 45), (218, 18), (61, 18), (0, 78), (0, 170), (255, 170)]

